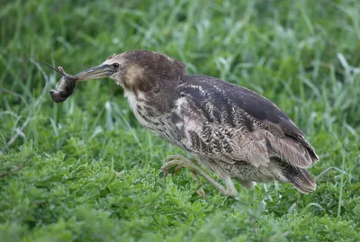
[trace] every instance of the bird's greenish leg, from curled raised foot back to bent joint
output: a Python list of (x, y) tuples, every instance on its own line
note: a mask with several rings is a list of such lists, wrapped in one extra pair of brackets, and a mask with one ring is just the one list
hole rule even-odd
[[(189, 160), (188, 158), (184, 157), (183, 155), (174, 155), (174, 156), (166, 157), (165, 164), (164, 166), (161, 167), (161, 169), (167, 174), (168, 169), (173, 166), (177, 166), (175, 168), (176, 172), (183, 167), (189, 167), (193, 173), (202, 175), (203, 178), (208, 180), (209, 183), (215, 186), (220, 191), (220, 193), (222, 193), (225, 196), (236, 196), (238, 194), (229, 176), (222, 175), (225, 177), (221, 177), (226, 184), (226, 187), (224, 187), (222, 184), (219, 184), (215, 179), (213, 179), (211, 175), (205, 172), (201, 166)], [(196, 176), (196, 180), (197, 180), (197, 176)]]

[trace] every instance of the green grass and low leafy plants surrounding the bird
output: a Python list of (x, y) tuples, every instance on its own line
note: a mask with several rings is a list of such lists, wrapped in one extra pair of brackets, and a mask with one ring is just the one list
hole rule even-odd
[[(360, 241), (360, 2), (13, 1), (0, 10), (0, 241)], [(109, 79), (49, 99), (59, 76), (152, 49), (277, 103), (320, 155), (315, 193), (238, 199), (188, 172)]]

